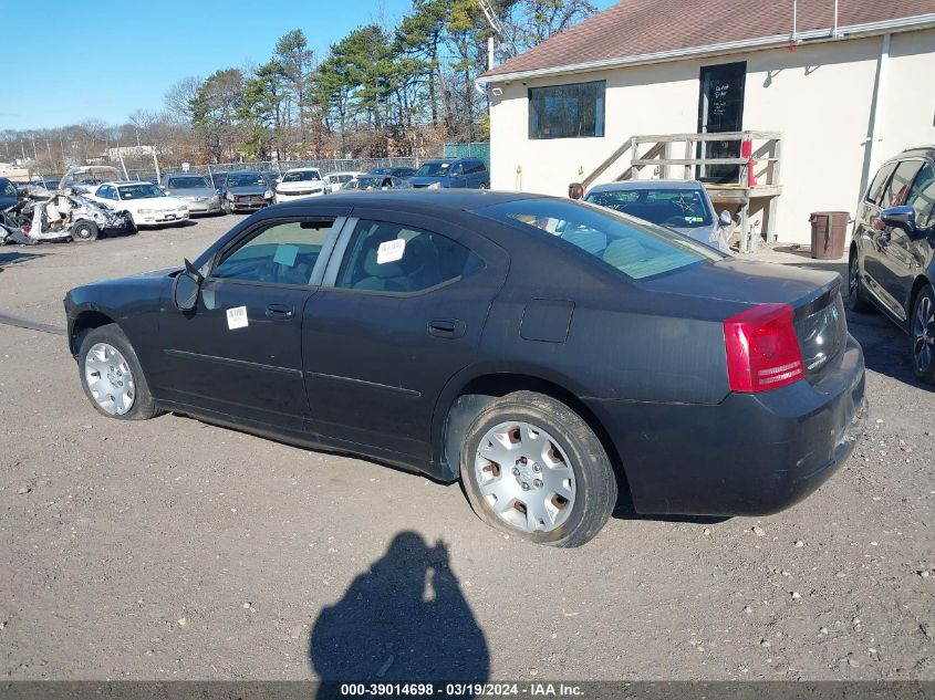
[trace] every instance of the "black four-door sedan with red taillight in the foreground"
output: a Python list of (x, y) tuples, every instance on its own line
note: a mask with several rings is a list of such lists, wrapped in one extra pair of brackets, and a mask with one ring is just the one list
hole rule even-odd
[(865, 408), (840, 283), (592, 205), (406, 190), (270, 207), (65, 311), (107, 416), (460, 479), (491, 525), (575, 546), (624, 478), (644, 513), (765, 514), (818, 488)]

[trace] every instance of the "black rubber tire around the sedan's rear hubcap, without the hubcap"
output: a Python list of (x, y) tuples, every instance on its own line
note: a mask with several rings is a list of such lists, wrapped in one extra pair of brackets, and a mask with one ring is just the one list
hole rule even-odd
[[(495, 512), (491, 502), (480, 491), (476, 460), (481, 448), (481, 440), (489, 430), (510, 421), (527, 422), (546, 431), (555, 443), (554, 447), (568, 456), (570, 462), (568, 466), (574, 474), (574, 498), (570, 501), (571, 512), (553, 530), (528, 532), (507, 522)], [(523, 464), (526, 464), (524, 461)], [(542, 471), (544, 472), (544, 469)], [(508, 394), (477, 415), (465, 433), (461, 445), (460, 474), (468, 501), (482, 521), (497, 530), (536, 544), (559, 547), (581, 546), (601, 531), (616, 504), (616, 478), (598, 436), (571, 408), (534, 391)], [(510, 478), (524, 479), (520, 474), (513, 477), (512, 471)], [(542, 485), (541, 481), (538, 483), (539, 487)], [(527, 492), (530, 492), (529, 489)], [(548, 493), (548, 490), (544, 493)], [(552, 503), (557, 504), (554, 500)], [(522, 506), (520, 513), (524, 512), (526, 506), (521, 503), (519, 505)]]

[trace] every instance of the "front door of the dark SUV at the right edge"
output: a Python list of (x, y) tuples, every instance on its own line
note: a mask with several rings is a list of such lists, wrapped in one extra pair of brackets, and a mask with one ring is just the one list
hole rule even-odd
[[(922, 159), (910, 158), (896, 166), (893, 177), (890, 178), (890, 185), (883, 192), (881, 211), (906, 203), (910, 188), (923, 165)], [(913, 258), (910, 253), (913, 241), (902, 228), (889, 226), (882, 220), (880, 223), (874, 231), (875, 248), (880, 259), (876, 272), (876, 281), (881, 288), (879, 291), (890, 310), (902, 320), (908, 314), (905, 307), (908, 290), (905, 286), (908, 284), (912, 289), (915, 280), (912, 275)], [(907, 278), (911, 279), (907, 280)]]

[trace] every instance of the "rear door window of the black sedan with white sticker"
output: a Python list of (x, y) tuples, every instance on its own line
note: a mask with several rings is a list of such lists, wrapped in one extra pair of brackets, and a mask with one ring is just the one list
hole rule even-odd
[(398, 223), (361, 220), (335, 286), (373, 292), (420, 292), (469, 276), (484, 262), (455, 241)]

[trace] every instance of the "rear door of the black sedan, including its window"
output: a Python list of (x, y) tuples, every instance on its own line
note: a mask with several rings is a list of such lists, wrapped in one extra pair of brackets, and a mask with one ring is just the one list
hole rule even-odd
[(474, 362), (508, 257), (437, 218), (353, 217), (305, 306), (313, 429), (351, 449), (427, 461), (435, 401)]

